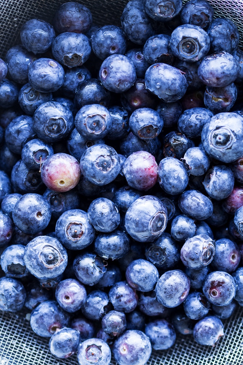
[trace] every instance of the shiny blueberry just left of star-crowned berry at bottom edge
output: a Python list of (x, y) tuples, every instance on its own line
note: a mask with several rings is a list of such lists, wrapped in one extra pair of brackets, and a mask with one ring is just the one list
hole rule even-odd
[(59, 359), (66, 359), (78, 350), (80, 335), (72, 328), (64, 327), (56, 331), (50, 338), (49, 350)]

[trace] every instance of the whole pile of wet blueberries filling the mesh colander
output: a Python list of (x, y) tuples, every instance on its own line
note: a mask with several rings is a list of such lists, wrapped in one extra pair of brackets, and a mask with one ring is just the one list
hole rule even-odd
[(243, 306), (237, 27), (205, 0), (121, 25), (66, 3), (0, 59), (0, 309), (80, 365), (214, 346)]

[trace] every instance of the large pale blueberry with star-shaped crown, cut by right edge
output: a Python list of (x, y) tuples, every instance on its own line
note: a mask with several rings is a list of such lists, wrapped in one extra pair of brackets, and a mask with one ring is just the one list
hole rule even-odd
[(243, 154), (243, 117), (236, 113), (219, 113), (204, 124), (201, 141), (205, 152), (229, 163)]

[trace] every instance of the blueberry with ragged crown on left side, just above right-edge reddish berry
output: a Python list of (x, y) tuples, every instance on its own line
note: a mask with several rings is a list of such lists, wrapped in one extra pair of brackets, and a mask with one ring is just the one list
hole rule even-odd
[(212, 199), (223, 200), (232, 193), (234, 180), (230, 168), (224, 165), (216, 165), (208, 170), (203, 186)]

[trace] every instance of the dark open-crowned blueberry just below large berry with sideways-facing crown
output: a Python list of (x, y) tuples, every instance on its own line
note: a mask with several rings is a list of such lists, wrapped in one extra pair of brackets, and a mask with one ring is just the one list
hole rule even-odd
[(173, 241), (169, 233), (163, 233), (146, 246), (145, 256), (157, 268), (171, 269), (180, 260), (179, 245)]

